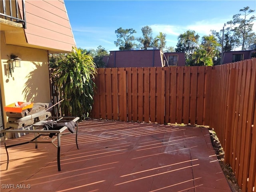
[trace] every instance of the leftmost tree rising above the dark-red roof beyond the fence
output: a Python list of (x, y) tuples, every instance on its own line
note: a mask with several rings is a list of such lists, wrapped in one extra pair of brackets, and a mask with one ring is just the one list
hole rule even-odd
[(114, 44), (118, 47), (119, 50), (130, 50), (135, 44), (135, 37), (132, 35), (136, 33), (134, 29), (122, 29), (122, 27), (118, 28), (116, 31), (117, 40)]

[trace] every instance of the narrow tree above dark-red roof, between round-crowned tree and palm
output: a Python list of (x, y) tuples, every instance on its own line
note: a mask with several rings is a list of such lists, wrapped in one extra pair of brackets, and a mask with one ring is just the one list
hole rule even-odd
[(141, 28), (142, 31), (142, 36), (138, 38), (138, 42), (140, 42), (140, 44), (142, 44), (143, 49), (147, 49), (148, 47), (153, 46), (153, 37), (152, 37), (152, 28), (150, 28), (149, 26), (144, 26)]

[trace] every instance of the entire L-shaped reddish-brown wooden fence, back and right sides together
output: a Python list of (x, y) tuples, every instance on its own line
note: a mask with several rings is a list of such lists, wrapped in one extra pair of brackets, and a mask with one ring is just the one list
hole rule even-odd
[[(256, 58), (213, 67), (99, 68), (95, 83), (92, 118), (209, 125), (242, 191), (256, 191)], [(58, 102), (56, 88), (52, 94)]]

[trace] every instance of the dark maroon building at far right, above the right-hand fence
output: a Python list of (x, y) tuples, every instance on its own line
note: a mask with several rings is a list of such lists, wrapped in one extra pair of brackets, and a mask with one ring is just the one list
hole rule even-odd
[(250, 59), (250, 58), (252, 58), (251, 54), (254, 53), (254, 52), (256, 52), (255, 49), (253, 49), (253, 50), (243, 50), (243, 51), (227, 51), (227, 52), (224, 52), (223, 53), (223, 64)]

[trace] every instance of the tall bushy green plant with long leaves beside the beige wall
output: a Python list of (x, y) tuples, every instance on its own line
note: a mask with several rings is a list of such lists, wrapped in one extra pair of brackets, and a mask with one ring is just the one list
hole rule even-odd
[(93, 105), (93, 79), (97, 74), (92, 56), (73, 48), (66, 59), (58, 61), (52, 76), (64, 101), (61, 103), (65, 116), (89, 116)]

